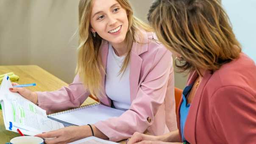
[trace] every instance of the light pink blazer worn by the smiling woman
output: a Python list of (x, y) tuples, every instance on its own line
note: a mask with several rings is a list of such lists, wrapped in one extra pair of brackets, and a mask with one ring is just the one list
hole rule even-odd
[[(129, 110), (119, 117), (95, 123), (111, 141), (120, 141), (131, 137), (134, 132), (143, 133), (145, 130), (153, 135), (177, 130), (172, 54), (162, 44), (152, 40), (156, 38), (153, 38), (153, 33), (143, 33), (143, 43), (134, 43), (131, 50)], [(105, 69), (108, 47), (106, 41), (100, 46)], [(102, 85), (105, 87), (105, 75)], [(100, 102), (111, 106), (105, 89), (102, 93)], [(79, 107), (89, 96), (78, 75), (68, 87), (37, 94), (39, 106), (48, 114)]]

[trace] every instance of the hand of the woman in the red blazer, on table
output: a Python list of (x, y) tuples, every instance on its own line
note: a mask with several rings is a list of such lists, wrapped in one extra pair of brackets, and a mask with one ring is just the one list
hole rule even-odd
[(143, 141), (142, 144), (147, 144), (150, 141), (158, 141), (158, 140), (159, 140), (158, 136), (150, 136), (150, 135), (145, 135), (143, 133), (135, 132), (134, 135), (128, 140), (127, 144), (135, 144), (135, 143), (137, 144), (142, 141)]

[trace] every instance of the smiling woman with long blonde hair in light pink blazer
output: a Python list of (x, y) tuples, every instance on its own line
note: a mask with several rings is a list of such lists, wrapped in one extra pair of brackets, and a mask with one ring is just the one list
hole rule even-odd
[[(155, 37), (156, 38), (156, 37)], [(155, 42), (151, 28), (133, 16), (128, 0), (81, 0), (79, 51), (73, 83), (52, 92), (14, 88), (47, 113), (79, 107), (92, 94), (125, 110), (120, 117), (37, 135), (46, 143), (95, 136), (120, 141), (136, 131), (176, 130), (172, 54)], [(86, 119), (86, 117), (84, 117)]]

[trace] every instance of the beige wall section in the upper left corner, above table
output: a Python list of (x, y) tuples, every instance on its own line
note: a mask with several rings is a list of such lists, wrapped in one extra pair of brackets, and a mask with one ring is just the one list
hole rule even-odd
[(0, 0), (0, 65), (28, 64), (30, 0)]

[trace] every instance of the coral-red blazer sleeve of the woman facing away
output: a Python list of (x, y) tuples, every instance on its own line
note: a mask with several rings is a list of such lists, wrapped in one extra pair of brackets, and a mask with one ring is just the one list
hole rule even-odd
[(237, 86), (218, 89), (211, 98), (211, 115), (217, 134), (226, 144), (255, 144), (255, 95)]

